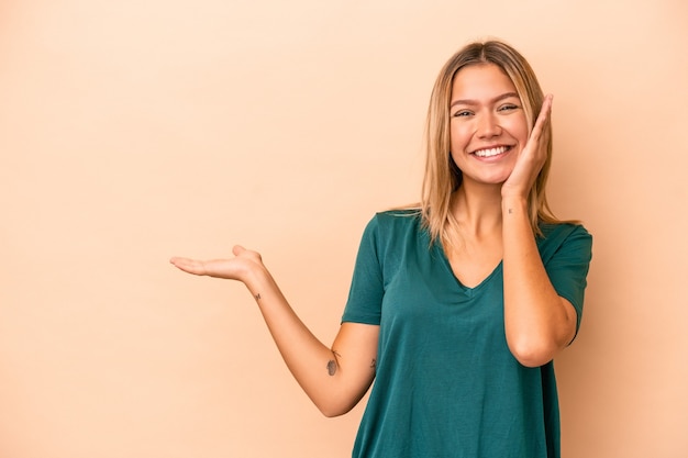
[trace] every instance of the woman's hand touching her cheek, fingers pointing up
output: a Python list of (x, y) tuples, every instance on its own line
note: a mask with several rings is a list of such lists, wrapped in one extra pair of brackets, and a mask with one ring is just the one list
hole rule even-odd
[(552, 94), (545, 97), (542, 109), (533, 126), (528, 143), (519, 154), (517, 164), (511, 175), (501, 187), (501, 197), (517, 197), (528, 199), (531, 188), (535, 183), (537, 174), (547, 159), (546, 145), (543, 142), (546, 126), (550, 123), (552, 113)]

